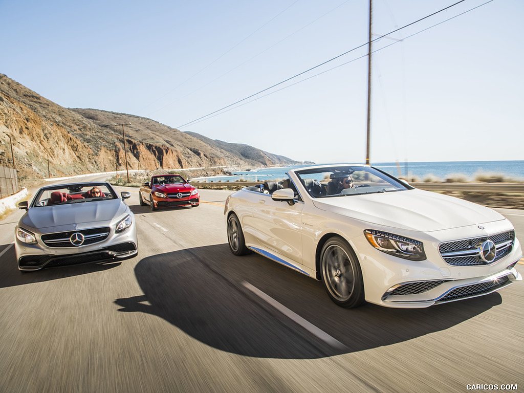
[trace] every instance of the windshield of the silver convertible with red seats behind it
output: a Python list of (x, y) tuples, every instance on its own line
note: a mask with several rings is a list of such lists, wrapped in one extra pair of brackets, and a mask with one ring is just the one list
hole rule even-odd
[(114, 190), (101, 184), (61, 184), (56, 187), (45, 187), (38, 191), (32, 207), (102, 201), (117, 198)]

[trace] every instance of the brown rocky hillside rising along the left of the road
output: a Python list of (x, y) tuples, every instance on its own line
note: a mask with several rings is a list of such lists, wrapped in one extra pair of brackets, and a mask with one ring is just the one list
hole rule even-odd
[[(19, 180), (125, 169), (226, 167), (296, 163), (252, 146), (212, 140), (134, 115), (63, 108), (0, 74), (0, 166)], [(9, 139), (9, 136), (11, 139)], [(209, 169), (219, 173), (223, 169)]]

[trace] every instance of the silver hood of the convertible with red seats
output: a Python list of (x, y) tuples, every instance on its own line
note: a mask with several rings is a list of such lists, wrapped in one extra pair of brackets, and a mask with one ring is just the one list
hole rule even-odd
[(111, 221), (126, 212), (127, 205), (120, 199), (100, 202), (69, 203), (30, 208), (21, 219), (34, 228), (48, 228), (67, 224)]

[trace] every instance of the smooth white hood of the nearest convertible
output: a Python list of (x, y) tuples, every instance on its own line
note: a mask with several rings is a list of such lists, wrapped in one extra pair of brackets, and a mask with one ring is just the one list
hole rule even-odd
[(432, 232), (505, 220), (496, 211), (453, 196), (423, 190), (319, 198), (313, 204), (372, 224)]

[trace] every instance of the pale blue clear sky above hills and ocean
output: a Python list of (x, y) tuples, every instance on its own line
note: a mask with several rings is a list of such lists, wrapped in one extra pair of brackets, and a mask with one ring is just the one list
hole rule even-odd
[[(374, 0), (374, 38), (400, 30), (373, 43), (372, 163), (523, 159), (524, 2), (465, 0), (402, 28), (454, 3)], [(0, 14), (0, 72), (61, 106), (365, 161), (367, 0), (0, 0)]]

